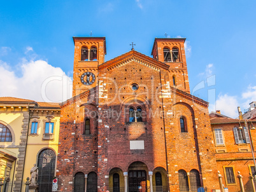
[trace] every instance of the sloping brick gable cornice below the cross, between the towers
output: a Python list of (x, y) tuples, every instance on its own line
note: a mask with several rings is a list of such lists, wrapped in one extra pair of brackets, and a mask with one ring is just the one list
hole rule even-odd
[(99, 65), (99, 70), (100, 69), (104, 69), (106, 67), (111, 67), (111, 66), (115, 66), (117, 65), (118, 63), (124, 61), (124, 60), (127, 60), (129, 58), (138, 58), (139, 60), (143, 60), (144, 62), (148, 62), (152, 65), (155, 65), (155, 67), (160, 67), (162, 69), (166, 69), (168, 70), (169, 69), (169, 65), (166, 65), (162, 62), (160, 62), (159, 60), (156, 60), (155, 58), (152, 58), (152, 57), (148, 57), (147, 55), (144, 55), (142, 53), (139, 53), (138, 51), (134, 51), (134, 50), (131, 50), (127, 53), (124, 53), (123, 55), (120, 55), (118, 57), (115, 57), (111, 60), (108, 60), (107, 62), (104, 62), (103, 64)]

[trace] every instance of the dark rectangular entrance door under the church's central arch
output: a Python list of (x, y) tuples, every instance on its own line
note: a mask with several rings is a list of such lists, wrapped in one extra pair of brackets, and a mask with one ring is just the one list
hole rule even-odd
[(129, 171), (129, 192), (146, 192), (146, 171)]

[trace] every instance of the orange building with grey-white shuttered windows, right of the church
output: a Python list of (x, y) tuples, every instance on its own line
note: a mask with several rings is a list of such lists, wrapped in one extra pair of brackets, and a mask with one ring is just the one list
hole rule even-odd
[[(252, 149), (255, 151), (255, 120), (232, 119), (220, 111), (210, 114), (211, 128), (215, 144), (217, 168), (222, 181), (229, 191), (240, 191), (238, 171), (243, 176), (245, 191), (253, 191), (250, 174), (255, 177)], [(246, 128), (245, 121), (248, 128)], [(250, 146), (252, 142), (252, 149)]]

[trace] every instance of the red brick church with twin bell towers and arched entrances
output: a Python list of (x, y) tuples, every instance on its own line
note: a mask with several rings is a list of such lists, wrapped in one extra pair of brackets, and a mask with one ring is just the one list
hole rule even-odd
[(60, 104), (59, 191), (219, 189), (208, 102), (190, 95), (184, 38), (104, 61), (73, 38), (73, 98)]

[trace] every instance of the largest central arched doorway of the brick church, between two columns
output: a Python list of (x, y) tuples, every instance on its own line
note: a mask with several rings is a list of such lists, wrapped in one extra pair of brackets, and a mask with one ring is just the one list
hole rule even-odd
[(148, 167), (141, 161), (132, 163), (128, 168), (129, 192), (146, 192), (148, 181)]

